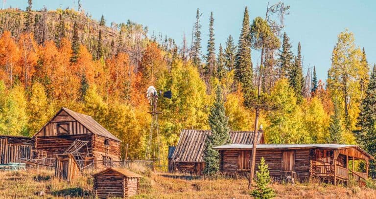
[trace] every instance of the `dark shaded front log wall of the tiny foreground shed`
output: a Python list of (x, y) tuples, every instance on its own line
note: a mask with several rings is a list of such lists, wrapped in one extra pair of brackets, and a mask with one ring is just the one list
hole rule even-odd
[(118, 172), (108, 171), (94, 176), (95, 194), (100, 199), (108, 197), (124, 198), (125, 196), (125, 177)]

